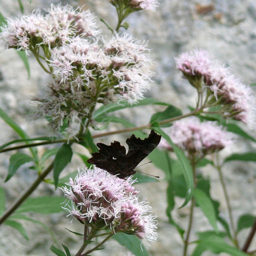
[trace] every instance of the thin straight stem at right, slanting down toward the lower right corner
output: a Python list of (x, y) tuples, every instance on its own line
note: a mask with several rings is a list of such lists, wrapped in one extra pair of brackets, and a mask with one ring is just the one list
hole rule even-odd
[(216, 158), (217, 158), (216, 169), (218, 170), (218, 173), (219, 173), (220, 183), (221, 183), (221, 186), (222, 186), (222, 189), (223, 189), (223, 192), (224, 192), (224, 196), (225, 196), (225, 200), (226, 200), (226, 204), (227, 204), (227, 207), (228, 207), (228, 216), (229, 216), (229, 219), (230, 219), (231, 230), (232, 230), (232, 233), (233, 233), (233, 242), (234, 242), (234, 245), (237, 248), (239, 248), (238, 240), (237, 240), (237, 237), (236, 237), (236, 228), (235, 228), (235, 224), (234, 224), (232, 208), (231, 208), (231, 204), (230, 204), (230, 200), (229, 200), (229, 196), (228, 196), (228, 191), (227, 191), (227, 188), (226, 188), (226, 184), (224, 182), (224, 177), (223, 177), (223, 174), (222, 174), (221, 166), (218, 163), (218, 154), (216, 155)]

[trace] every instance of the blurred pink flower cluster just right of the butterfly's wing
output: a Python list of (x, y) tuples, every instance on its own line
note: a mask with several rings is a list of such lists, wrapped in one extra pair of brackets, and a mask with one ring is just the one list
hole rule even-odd
[[(232, 134), (222, 126), (210, 121), (200, 122), (196, 117), (174, 122), (169, 136), (190, 158), (201, 158), (222, 150), (230, 145), (233, 139)], [(170, 149), (165, 140), (160, 143), (160, 146)]]

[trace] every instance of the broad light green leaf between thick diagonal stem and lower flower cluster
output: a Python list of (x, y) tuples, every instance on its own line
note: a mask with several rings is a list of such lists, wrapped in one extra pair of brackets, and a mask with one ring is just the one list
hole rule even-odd
[(51, 214), (62, 212), (61, 203), (64, 202), (62, 196), (42, 196), (36, 198), (28, 198), (17, 210), (21, 212), (37, 212), (41, 214)]

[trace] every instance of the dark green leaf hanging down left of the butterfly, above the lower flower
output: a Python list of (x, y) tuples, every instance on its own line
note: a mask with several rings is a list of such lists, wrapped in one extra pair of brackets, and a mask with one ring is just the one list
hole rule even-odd
[(72, 154), (73, 154), (72, 148), (68, 144), (62, 145), (58, 150), (55, 156), (54, 165), (53, 165), (53, 178), (54, 178), (55, 188), (57, 188), (60, 173), (71, 161)]

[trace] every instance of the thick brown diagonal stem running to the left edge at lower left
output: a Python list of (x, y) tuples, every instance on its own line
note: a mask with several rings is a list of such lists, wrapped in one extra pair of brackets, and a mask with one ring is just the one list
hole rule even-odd
[(34, 183), (25, 191), (13, 204), (8, 208), (0, 218), (0, 225), (34, 192), (37, 186), (44, 180), (53, 168), (53, 161), (46, 167), (46, 169), (38, 176)]

